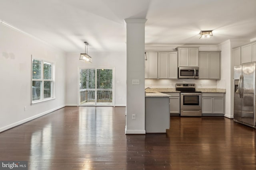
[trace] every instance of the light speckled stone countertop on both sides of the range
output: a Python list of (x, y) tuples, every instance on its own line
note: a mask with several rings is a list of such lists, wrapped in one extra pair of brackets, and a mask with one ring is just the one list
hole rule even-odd
[[(222, 89), (222, 88), (196, 88), (196, 91), (202, 92), (202, 93), (226, 93), (226, 89)], [(176, 91), (175, 88), (150, 88), (150, 89), (146, 89), (146, 92), (180, 93), (180, 91)], [(146, 93), (146, 94), (153, 94), (151, 95), (152, 97), (154, 95), (157, 96), (157, 94), (154, 94), (154, 93)], [(160, 96), (160, 94), (158, 95)]]

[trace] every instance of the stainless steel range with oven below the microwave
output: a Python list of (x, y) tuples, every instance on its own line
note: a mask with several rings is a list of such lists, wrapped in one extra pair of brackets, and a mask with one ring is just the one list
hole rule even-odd
[(196, 84), (176, 84), (180, 91), (180, 116), (202, 116), (202, 92), (196, 92)]

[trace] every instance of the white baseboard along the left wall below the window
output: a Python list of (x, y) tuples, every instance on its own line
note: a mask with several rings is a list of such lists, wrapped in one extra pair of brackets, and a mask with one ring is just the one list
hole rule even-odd
[(26, 123), (26, 122), (28, 122), (28, 121), (31, 121), (31, 120), (33, 120), (33, 119), (36, 119), (36, 118), (38, 118), (38, 117), (41, 117), (41, 116), (46, 115), (46, 114), (48, 114), (48, 113), (51, 113), (51, 112), (53, 112), (53, 111), (55, 111), (55, 110), (61, 109), (62, 107), (65, 107), (65, 106), (66, 106), (66, 105), (59, 106), (59, 107), (56, 107), (56, 108), (54, 108), (54, 109), (50, 109), (50, 110), (48, 110), (48, 111), (45, 111), (45, 112), (43, 112), (43, 113), (39, 113), (39, 114), (37, 114), (37, 115), (34, 115), (34, 116), (32, 116), (32, 117), (28, 117), (28, 118), (23, 119), (23, 120), (21, 120), (21, 121), (18, 121), (18, 122), (16, 122), (16, 123), (12, 123), (12, 124), (7, 125), (7, 126), (5, 126), (5, 127), (1, 127), (1, 128), (0, 128), (0, 133), (1, 133), (2, 131), (6, 131), (6, 130), (8, 130), (8, 129), (11, 129), (11, 128), (13, 128), (13, 127), (16, 127), (16, 126), (18, 126), (18, 125), (21, 125), (21, 124)]

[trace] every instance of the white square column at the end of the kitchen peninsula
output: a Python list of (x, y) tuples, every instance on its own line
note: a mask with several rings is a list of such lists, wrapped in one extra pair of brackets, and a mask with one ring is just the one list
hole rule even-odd
[[(144, 20), (126, 22), (126, 134), (145, 134)], [(133, 85), (132, 80), (139, 80)], [(135, 119), (132, 119), (135, 115)]]

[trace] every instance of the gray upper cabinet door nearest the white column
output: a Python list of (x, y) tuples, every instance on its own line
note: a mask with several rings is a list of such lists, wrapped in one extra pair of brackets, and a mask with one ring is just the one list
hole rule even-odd
[(157, 52), (148, 52), (148, 78), (157, 78)]

